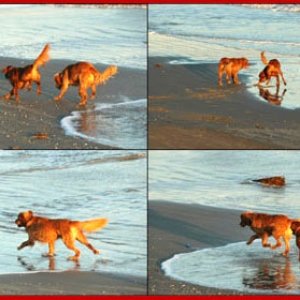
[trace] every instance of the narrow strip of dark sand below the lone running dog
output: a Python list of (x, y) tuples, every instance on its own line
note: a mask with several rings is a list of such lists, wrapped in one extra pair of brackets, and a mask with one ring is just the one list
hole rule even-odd
[(96, 272), (0, 275), (1, 295), (145, 295), (146, 279)]

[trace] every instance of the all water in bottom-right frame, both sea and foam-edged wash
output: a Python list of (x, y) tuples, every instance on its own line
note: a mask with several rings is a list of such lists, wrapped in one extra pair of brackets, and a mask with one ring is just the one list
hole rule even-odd
[[(300, 151), (150, 151), (149, 199), (300, 217)], [(285, 176), (283, 188), (251, 182)], [(272, 239), (270, 239), (272, 240)], [(274, 242), (274, 241), (273, 241)], [(298, 249), (288, 259), (260, 242), (179, 253), (162, 263), (177, 280), (252, 293), (300, 292)], [(217, 267), (216, 267), (217, 266)]]

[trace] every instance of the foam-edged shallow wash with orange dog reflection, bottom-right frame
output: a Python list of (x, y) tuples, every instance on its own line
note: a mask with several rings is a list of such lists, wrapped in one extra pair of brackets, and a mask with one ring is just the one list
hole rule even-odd
[[(273, 241), (274, 242), (274, 241)], [(255, 294), (300, 293), (300, 268), (295, 241), (289, 258), (280, 250), (245, 242), (177, 254), (162, 263), (167, 276), (193, 284)], [(282, 250), (281, 250), (282, 251)]]

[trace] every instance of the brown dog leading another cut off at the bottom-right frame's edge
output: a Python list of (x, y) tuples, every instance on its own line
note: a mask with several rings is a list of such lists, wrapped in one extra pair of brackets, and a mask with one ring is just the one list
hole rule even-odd
[[(290, 220), (286, 215), (269, 215), (264, 213), (244, 212), (241, 214), (242, 227), (250, 226), (254, 235), (250, 237), (247, 245), (250, 245), (255, 239), (260, 238), (262, 240), (263, 247), (270, 247), (272, 250), (280, 247), (282, 237), (285, 243), (284, 256), (287, 256), (290, 251), (290, 239), (292, 237)], [(273, 236), (276, 240), (275, 245), (268, 243), (269, 236)]]

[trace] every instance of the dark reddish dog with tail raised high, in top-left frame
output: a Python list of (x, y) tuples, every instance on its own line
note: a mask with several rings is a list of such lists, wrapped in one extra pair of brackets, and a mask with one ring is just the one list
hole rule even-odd
[(19, 101), (19, 89), (27, 88), (31, 90), (32, 83), (37, 84), (37, 94), (41, 93), (41, 74), (39, 67), (44, 65), (49, 59), (50, 45), (47, 44), (41, 54), (37, 57), (33, 64), (25, 67), (7, 66), (2, 70), (2, 73), (10, 81), (12, 90), (7, 93), (4, 98), (9, 100), (15, 96), (16, 101)]

